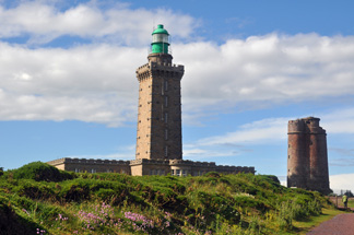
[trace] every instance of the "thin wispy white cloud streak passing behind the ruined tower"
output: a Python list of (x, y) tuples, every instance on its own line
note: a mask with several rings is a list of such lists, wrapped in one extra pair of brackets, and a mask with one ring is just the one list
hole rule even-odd
[[(307, 117), (306, 115), (304, 117)], [(320, 115), (320, 126), (327, 130), (328, 134), (346, 134), (354, 133), (354, 109), (342, 108), (335, 109), (332, 113), (322, 113)], [(260, 146), (270, 144), (284, 144), (287, 141), (287, 122), (294, 120), (294, 117), (279, 117), (267, 118), (249, 124), (234, 127), (234, 130), (222, 133), (219, 136), (212, 136), (202, 138), (193, 143), (185, 145), (187, 153), (190, 157), (199, 156), (235, 156), (245, 152), (244, 146)], [(353, 122), (353, 124), (352, 124)], [(352, 125), (351, 125), (352, 124)], [(350, 146), (351, 148), (351, 146)], [(237, 150), (237, 151), (236, 151)], [(353, 156), (353, 149), (341, 149), (331, 146), (330, 153), (334, 155), (342, 155), (342, 158), (333, 158), (330, 162), (331, 166), (349, 166), (353, 165), (353, 160), (349, 156)], [(344, 158), (343, 158), (344, 157)]]

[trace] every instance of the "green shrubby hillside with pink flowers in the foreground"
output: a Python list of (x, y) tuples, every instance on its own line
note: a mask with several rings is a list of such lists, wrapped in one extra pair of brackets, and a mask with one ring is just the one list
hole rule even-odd
[(296, 221), (328, 204), (274, 176), (75, 174), (36, 162), (0, 177), (0, 234), (296, 234)]

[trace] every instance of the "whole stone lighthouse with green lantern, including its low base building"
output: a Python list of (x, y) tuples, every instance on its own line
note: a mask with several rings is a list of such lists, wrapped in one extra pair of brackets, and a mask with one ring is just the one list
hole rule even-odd
[(184, 66), (173, 64), (169, 34), (164, 25), (152, 33), (148, 63), (135, 71), (139, 81), (135, 160), (102, 161), (61, 158), (49, 162), (60, 169), (117, 172), (132, 176), (200, 176), (209, 172), (222, 174), (251, 173), (255, 167), (224, 166), (214, 162), (182, 158), (180, 80)]

